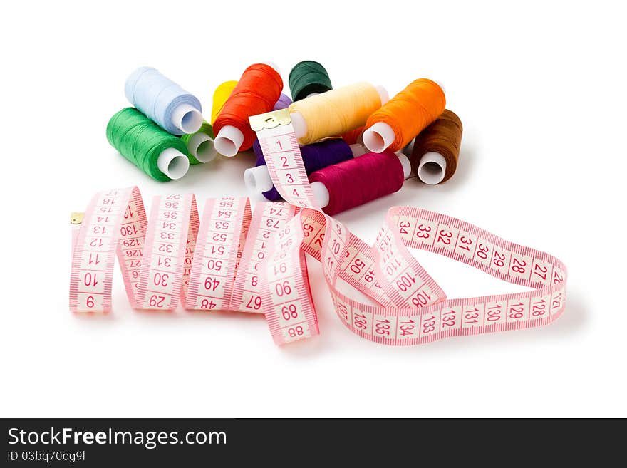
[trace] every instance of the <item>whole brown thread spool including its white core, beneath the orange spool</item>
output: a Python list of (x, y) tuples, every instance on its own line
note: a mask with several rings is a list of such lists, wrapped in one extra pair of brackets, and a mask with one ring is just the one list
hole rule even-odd
[(440, 184), (455, 174), (462, 130), (462, 121), (457, 114), (445, 109), (416, 137), (410, 160), (414, 172), (425, 184)]

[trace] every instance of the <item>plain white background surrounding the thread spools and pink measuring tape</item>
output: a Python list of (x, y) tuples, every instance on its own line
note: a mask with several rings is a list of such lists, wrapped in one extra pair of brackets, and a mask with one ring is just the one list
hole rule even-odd
[[(2, 49), (1, 416), (627, 416), (626, 93), (618, 2), (11, 2)], [(321, 336), (277, 348), (264, 318), (68, 312), (68, 214), (137, 184), (200, 200), (244, 195), (251, 155), (150, 180), (108, 145), (125, 78), (150, 65), (202, 101), (255, 61), (284, 81), (314, 59), (334, 85), (390, 95), (445, 83), (464, 123), (459, 170), (408, 180), (341, 214), (373, 241), (388, 207), (425, 207), (549, 251), (569, 267), (564, 315), (544, 328), (389, 348), (353, 336), (311, 281)], [(515, 291), (418, 252), (450, 297)]]

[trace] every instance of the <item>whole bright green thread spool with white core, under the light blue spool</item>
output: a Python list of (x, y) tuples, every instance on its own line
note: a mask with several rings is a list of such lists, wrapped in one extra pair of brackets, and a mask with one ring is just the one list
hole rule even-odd
[(121, 155), (155, 180), (180, 179), (190, 168), (187, 146), (135, 108), (110, 118), (107, 140)]

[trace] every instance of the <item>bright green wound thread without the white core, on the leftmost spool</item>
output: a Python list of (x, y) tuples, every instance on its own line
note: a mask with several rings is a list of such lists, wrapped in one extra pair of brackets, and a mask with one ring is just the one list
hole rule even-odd
[(110, 118), (107, 140), (120, 155), (160, 182), (172, 180), (157, 166), (163, 150), (174, 148), (189, 157), (185, 142), (170, 135), (135, 108), (122, 109)]

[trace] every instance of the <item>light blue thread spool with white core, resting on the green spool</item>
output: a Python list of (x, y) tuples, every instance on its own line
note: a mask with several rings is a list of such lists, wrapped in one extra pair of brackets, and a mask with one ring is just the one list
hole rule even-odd
[(131, 73), (124, 93), (135, 108), (172, 135), (194, 133), (202, 125), (200, 101), (155, 68)]

